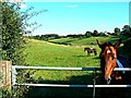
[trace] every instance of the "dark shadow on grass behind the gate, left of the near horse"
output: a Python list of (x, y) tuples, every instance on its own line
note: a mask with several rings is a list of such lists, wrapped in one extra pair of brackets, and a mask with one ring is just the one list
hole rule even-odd
[[(63, 85), (88, 85), (93, 84), (93, 75), (72, 76), (70, 81), (39, 81), (39, 84), (63, 84)], [(93, 88), (78, 87), (29, 87), (27, 98), (37, 97), (88, 97), (93, 98)], [(96, 88), (96, 96), (99, 97), (99, 88)]]

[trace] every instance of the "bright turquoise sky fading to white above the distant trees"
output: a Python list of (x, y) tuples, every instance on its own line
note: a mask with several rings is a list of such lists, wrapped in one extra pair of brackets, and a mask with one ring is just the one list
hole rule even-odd
[(43, 25), (32, 32), (34, 36), (85, 34), (95, 29), (112, 33), (115, 27), (122, 29), (129, 24), (129, 2), (26, 2), (22, 11), (31, 7), (34, 9), (28, 13), (47, 10), (28, 21)]

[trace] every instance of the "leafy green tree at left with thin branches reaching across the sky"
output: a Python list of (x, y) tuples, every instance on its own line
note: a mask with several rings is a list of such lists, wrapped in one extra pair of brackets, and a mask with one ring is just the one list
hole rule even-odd
[[(11, 2), (0, 2), (1, 5), (1, 36), (0, 36), (0, 50), (1, 50), (1, 59), (12, 61), (12, 64), (21, 65), (25, 64), (25, 54), (23, 52), (25, 46), (25, 37), (24, 33), (27, 26), (32, 26), (34, 24), (27, 24), (27, 21), (41, 13), (33, 12), (33, 14), (28, 15), (26, 12), (21, 12), (20, 3), (11, 3)], [(43, 11), (45, 12), (45, 11)], [(17, 82), (25, 82), (23, 79), (23, 75), (19, 75)], [(17, 86), (15, 90), (15, 98), (25, 98), (24, 94), (27, 93), (27, 87)], [(5, 97), (8, 98), (8, 97)]]

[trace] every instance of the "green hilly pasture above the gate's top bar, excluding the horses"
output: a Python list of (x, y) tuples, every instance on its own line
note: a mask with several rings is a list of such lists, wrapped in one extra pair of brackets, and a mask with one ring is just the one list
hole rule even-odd
[[(84, 47), (94, 47), (98, 53), (100, 49), (96, 45), (96, 39), (100, 41), (114, 39), (112, 37), (91, 37), (91, 38), (60, 38), (50, 41), (70, 41), (72, 46), (57, 45), (47, 41), (28, 39), (25, 49), (26, 63), (28, 65), (44, 66), (98, 66), (97, 57), (87, 57), (83, 51)], [(94, 42), (92, 46), (91, 42)], [(91, 63), (92, 62), (92, 63)]]

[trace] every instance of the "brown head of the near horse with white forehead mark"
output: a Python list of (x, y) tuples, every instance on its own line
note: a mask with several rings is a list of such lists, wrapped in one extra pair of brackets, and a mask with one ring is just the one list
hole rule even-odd
[(100, 42), (97, 40), (97, 45), (102, 49), (99, 58), (100, 58), (100, 66), (103, 69), (104, 78), (107, 84), (111, 81), (111, 75), (114, 69), (117, 66), (116, 59), (117, 59), (117, 49), (120, 46), (120, 40), (118, 40), (115, 45), (111, 42)]

